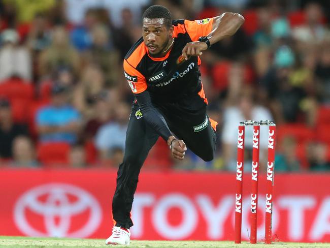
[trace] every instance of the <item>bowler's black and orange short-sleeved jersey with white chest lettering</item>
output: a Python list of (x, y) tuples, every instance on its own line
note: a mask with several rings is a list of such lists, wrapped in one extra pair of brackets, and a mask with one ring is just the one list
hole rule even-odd
[(174, 20), (174, 44), (164, 57), (151, 57), (139, 39), (124, 59), (124, 74), (133, 93), (149, 91), (153, 101), (171, 101), (202, 90), (198, 56), (185, 60), (181, 54), (188, 42), (207, 36), (212, 30), (212, 18), (204, 20)]

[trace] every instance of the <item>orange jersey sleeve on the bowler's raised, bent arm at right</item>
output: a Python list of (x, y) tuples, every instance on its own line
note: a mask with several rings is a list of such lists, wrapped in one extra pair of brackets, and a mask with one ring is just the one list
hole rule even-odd
[(203, 20), (184, 20), (184, 25), (192, 41), (198, 41), (201, 36), (207, 36), (212, 31), (213, 18)]

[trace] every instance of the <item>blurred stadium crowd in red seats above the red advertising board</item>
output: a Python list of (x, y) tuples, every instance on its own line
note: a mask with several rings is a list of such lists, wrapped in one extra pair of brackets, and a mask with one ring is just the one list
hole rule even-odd
[[(277, 171), (330, 170), (327, 2), (0, 0), (1, 166), (118, 166), (133, 101), (122, 59), (141, 37), (141, 13), (159, 4), (174, 19), (235, 11), (245, 23), (201, 57), (209, 114), (219, 123), (215, 160), (188, 150), (178, 163), (159, 139), (146, 169), (235, 170), (239, 121), (270, 119)], [(251, 140), (247, 129), (247, 161)], [(263, 164), (267, 142), (261, 127)]]

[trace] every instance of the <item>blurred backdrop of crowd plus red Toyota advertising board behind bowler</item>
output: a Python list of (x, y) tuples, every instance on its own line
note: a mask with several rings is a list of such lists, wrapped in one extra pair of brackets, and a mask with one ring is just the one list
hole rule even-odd
[[(273, 240), (329, 242), (330, 1), (308, 0), (0, 0), (0, 235), (109, 236), (133, 102), (122, 61), (153, 4), (174, 19), (232, 11), (245, 23), (201, 57), (219, 123), (215, 159), (188, 150), (179, 163), (159, 139), (140, 175), (132, 237), (233, 240), (237, 127), (269, 119)], [(268, 129), (260, 130), (262, 239)], [(249, 171), (252, 128), (245, 145)]]

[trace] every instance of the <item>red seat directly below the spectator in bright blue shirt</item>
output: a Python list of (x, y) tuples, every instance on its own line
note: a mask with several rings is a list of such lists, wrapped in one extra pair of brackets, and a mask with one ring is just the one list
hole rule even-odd
[(38, 145), (38, 159), (46, 167), (68, 166), (70, 145), (65, 142), (47, 142)]

